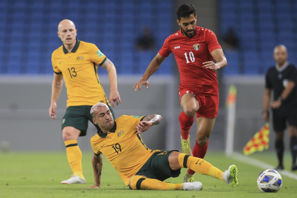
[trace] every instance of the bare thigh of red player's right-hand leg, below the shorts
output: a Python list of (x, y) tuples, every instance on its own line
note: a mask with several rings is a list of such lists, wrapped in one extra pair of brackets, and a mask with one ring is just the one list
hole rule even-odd
[(197, 134), (196, 137), (209, 137), (213, 130), (213, 125), (216, 118), (197, 118)]

